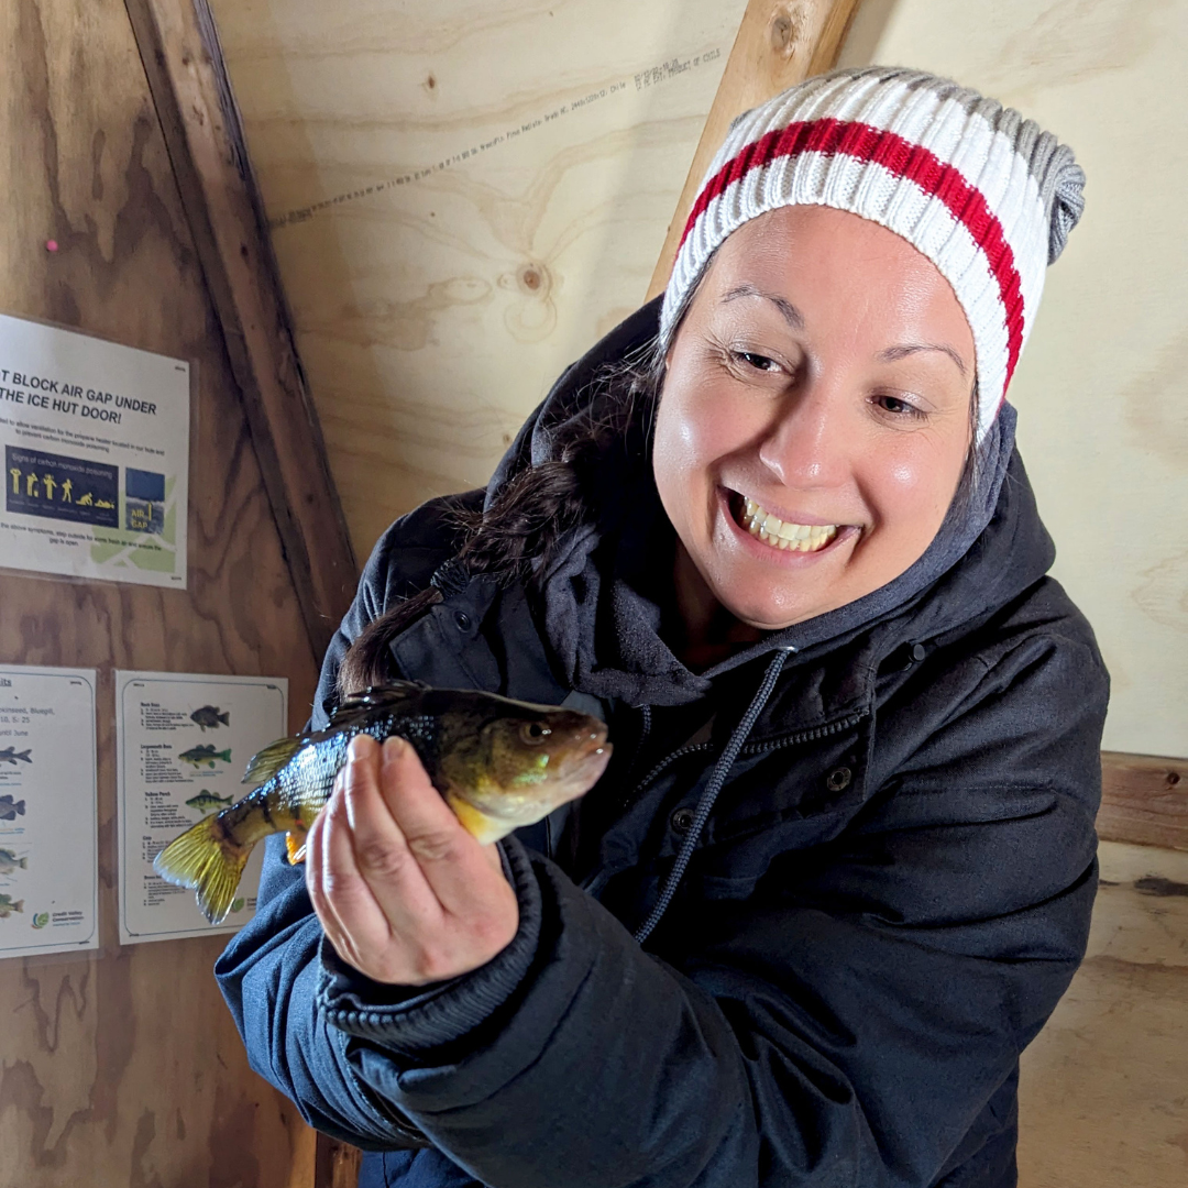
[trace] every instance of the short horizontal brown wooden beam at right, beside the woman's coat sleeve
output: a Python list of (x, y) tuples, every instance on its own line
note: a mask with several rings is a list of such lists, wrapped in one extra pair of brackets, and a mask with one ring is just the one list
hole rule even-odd
[(1188, 849), (1188, 762), (1101, 752), (1098, 834), (1164, 849)]

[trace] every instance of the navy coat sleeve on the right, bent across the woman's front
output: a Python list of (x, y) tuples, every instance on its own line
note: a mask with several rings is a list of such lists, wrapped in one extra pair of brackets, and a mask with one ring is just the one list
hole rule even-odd
[(320, 1016), (487, 1184), (934, 1184), (1083, 955), (1105, 700), (1092, 646), (1030, 638), (676, 965), (532, 858), (539, 936), (494, 1025), (426, 1044), (333, 978)]

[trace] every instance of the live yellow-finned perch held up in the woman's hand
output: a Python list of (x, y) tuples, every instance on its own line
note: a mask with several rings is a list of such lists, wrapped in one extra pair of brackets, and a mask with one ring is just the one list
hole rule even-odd
[[(345, 701), (324, 731), (279, 739), (254, 756), (244, 783), (260, 786), (211, 813), (153, 860), (157, 873), (192, 887), (211, 924), (232, 910), (252, 847), (286, 833), (290, 862), (330, 797), (356, 734), (406, 739), (462, 827), (498, 841), (588, 791), (611, 758), (596, 718), (473, 689), (396, 682)], [(184, 759), (185, 756), (182, 756)]]

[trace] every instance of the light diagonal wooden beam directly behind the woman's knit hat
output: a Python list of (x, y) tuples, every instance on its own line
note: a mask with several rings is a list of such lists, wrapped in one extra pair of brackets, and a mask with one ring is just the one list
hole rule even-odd
[(750, 0), (718, 86), (647, 298), (664, 291), (697, 189), (731, 120), (838, 61), (860, 0)]

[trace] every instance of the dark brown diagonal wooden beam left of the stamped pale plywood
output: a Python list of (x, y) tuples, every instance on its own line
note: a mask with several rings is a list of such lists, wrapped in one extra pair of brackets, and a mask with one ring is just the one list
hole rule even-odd
[(321, 657), (359, 568), (207, 0), (125, 0), (277, 529)]

